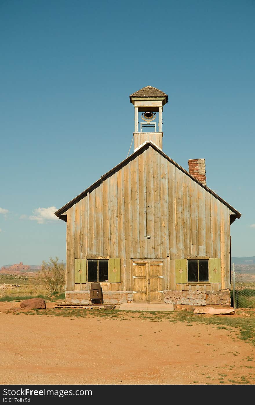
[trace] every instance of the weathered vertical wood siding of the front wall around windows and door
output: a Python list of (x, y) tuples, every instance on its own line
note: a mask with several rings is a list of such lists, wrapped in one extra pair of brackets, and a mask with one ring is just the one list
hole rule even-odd
[(175, 284), (174, 261), (197, 256), (221, 259), (221, 283), (199, 288), (230, 287), (230, 210), (152, 147), (67, 211), (67, 290), (89, 289), (75, 258), (120, 258), (121, 282), (103, 290), (133, 289), (131, 259), (164, 260), (166, 290), (196, 289)]

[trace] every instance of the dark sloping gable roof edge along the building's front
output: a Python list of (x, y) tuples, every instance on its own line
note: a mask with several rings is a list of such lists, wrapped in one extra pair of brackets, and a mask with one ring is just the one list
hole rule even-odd
[(172, 164), (175, 165), (175, 167), (177, 167), (179, 170), (181, 170), (183, 173), (185, 173), (187, 176), (189, 176), (192, 180), (194, 180), (196, 183), (198, 183), (198, 185), (200, 185), (200, 187), (204, 188), (206, 191), (208, 191), (210, 194), (212, 194), (215, 198), (217, 198), (217, 200), (219, 200), (221, 203), (223, 203), (226, 207), (228, 207), (230, 209), (230, 211), (233, 212), (232, 215), (232, 220), (230, 221), (230, 223), (234, 222), (234, 220), (236, 218), (240, 218), (240, 216), (242, 214), (240, 214), (240, 212), (238, 212), (236, 209), (234, 209), (233, 207), (231, 207), (231, 205), (229, 205), (225, 200), (223, 200), (223, 198), (219, 197), (213, 190), (211, 190), (209, 187), (207, 187), (207, 185), (204, 185), (203, 183), (201, 183), (198, 179), (196, 179), (196, 177), (192, 176), (188, 171), (186, 171), (185, 169), (183, 169), (183, 167), (179, 166), (179, 164), (177, 164), (174, 160), (172, 160), (171, 158), (169, 158), (169, 156), (167, 156), (154, 142), (152, 141), (145, 141), (139, 148), (137, 148), (135, 150), (135, 152), (133, 152), (128, 158), (124, 159), (122, 162), (120, 162), (117, 166), (115, 166), (114, 168), (112, 168), (110, 171), (108, 171), (107, 173), (105, 173), (103, 176), (101, 176), (100, 179), (98, 179), (97, 181), (95, 181), (95, 183), (93, 183), (92, 185), (90, 185), (88, 188), (86, 188), (86, 190), (84, 190), (81, 194), (79, 194), (77, 197), (75, 197), (73, 200), (71, 200), (69, 203), (65, 204), (62, 208), (60, 208), (58, 211), (55, 212), (55, 215), (57, 215), (57, 217), (59, 217), (61, 220), (66, 222), (66, 214), (65, 211), (67, 211), (67, 209), (71, 208), (75, 203), (77, 203), (78, 201), (80, 201), (84, 196), (86, 196), (86, 194), (88, 192), (90, 192), (90, 190), (92, 190), (93, 188), (95, 188), (97, 185), (99, 185), (104, 179), (106, 179), (108, 176), (110, 176), (112, 173), (114, 173), (116, 170), (118, 170), (121, 166), (125, 166), (125, 164), (129, 163), (129, 161), (131, 161), (133, 158), (135, 158), (136, 156), (140, 155), (141, 153), (143, 153), (146, 149), (148, 149), (149, 147), (152, 147), (153, 149), (155, 149), (158, 153), (160, 153), (161, 156), (163, 156), (164, 158), (166, 158), (169, 162), (171, 162)]

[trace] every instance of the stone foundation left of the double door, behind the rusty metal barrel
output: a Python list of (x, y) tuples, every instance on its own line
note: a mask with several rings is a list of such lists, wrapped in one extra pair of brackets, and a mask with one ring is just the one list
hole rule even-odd
[[(65, 302), (67, 304), (89, 304), (90, 291), (67, 291)], [(133, 291), (103, 291), (104, 304), (133, 303)]]

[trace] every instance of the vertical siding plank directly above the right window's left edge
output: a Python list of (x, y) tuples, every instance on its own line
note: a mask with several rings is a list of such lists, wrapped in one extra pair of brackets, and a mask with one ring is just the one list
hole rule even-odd
[(184, 256), (191, 255), (191, 236), (190, 236), (190, 177), (183, 173), (182, 177), (183, 186), (183, 248)]

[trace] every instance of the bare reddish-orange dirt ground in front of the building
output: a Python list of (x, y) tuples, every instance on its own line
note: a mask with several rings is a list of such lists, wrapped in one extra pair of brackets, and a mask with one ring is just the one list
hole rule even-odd
[(55, 317), (47, 308), (42, 316), (25, 310), (17, 316), (12, 306), (0, 303), (0, 384), (255, 382), (255, 347), (240, 341), (236, 328)]

